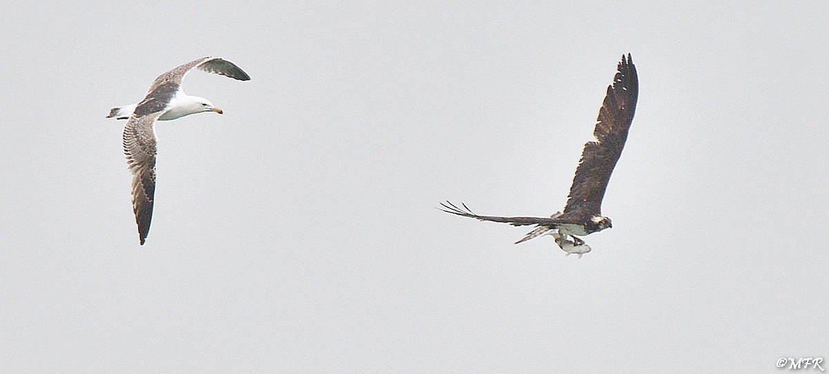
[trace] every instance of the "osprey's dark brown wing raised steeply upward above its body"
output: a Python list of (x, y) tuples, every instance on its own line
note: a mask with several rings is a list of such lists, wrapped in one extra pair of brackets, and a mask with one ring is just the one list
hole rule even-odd
[(636, 110), (639, 80), (630, 54), (627, 60), (622, 56), (617, 69), (613, 85), (608, 86), (608, 94), (596, 119), (593, 132), (596, 141), (584, 144), (579, 168), (575, 171), (570, 198), (561, 216), (567, 221), (582, 221), (601, 215), (602, 198), (610, 174), (628, 139), (628, 129)]

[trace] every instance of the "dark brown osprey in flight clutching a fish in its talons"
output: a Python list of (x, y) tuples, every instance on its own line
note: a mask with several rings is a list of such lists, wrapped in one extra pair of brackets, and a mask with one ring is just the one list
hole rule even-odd
[[(639, 93), (639, 80), (636, 66), (628, 53), (627, 60), (622, 56), (618, 63), (613, 85), (608, 86), (599, 118), (594, 129), (595, 141), (584, 144), (579, 167), (575, 170), (570, 196), (563, 212), (556, 212), (550, 217), (526, 216), (478, 216), (465, 204), (463, 208), (451, 202), (441, 203), (442, 211), (458, 216), (475, 218), (480, 221), (509, 223), (512, 226), (536, 225), (516, 244), (530, 240), (542, 234), (552, 235), (555, 244), (567, 255), (578, 254), (579, 258), (590, 251), (590, 246), (577, 236), (585, 236), (613, 227), (610, 218), (602, 216), (602, 198), (608, 187), (610, 174), (622, 155), (622, 148), (628, 139), (628, 130), (633, 122), (636, 100)], [(568, 237), (573, 240), (568, 239)]]

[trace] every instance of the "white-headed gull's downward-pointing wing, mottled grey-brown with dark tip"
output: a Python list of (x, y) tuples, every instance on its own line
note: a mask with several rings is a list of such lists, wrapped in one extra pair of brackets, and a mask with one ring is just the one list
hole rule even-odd
[(155, 194), (156, 137), (153, 124), (162, 112), (133, 115), (124, 126), (124, 153), (133, 173), (133, 212), (138, 223), (138, 239), (147, 239), (153, 219)]

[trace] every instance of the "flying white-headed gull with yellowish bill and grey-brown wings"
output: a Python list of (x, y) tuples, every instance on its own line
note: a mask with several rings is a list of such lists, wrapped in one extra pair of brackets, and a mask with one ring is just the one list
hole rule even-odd
[(189, 114), (216, 112), (221, 109), (201, 97), (182, 91), (182, 80), (193, 68), (228, 76), (235, 80), (250, 80), (239, 66), (218, 57), (202, 57), (158, 75), (144, 99), (109, 111), (107, 118), (127, 119), (124, 126), (124, 153), (129, 171), (133, 173), (133, 213), (138, 224), (141, 245), (150, 231), (155, 194), (156, 120), (182, 118)]

